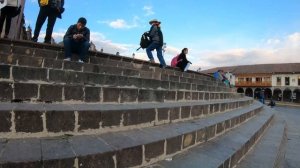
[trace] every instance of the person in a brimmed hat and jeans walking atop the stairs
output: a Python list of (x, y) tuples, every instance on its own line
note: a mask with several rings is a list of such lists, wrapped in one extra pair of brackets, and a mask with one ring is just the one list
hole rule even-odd
[(157, 58), (160, 62), (160, 67), (165, 68), (166, 67), (166, 62), (164, 60), (163, 54), (162, 54), (162, 46), (164, 44), (163, 41), (163, 34), (161, 32), (160, 28), (160, 21), (157, 19), (153, 19), (149, 22), (151, 25), (150, 31), (148, 33), (148, 36), (151, 39), (150, 45), (147, 47), (146, 52), (148, 55), (148, 58), (150, 59), (150, 62), (154, 63), (154, 58), (152, 55), (152, 51), (155, 49), (157, 52)]

